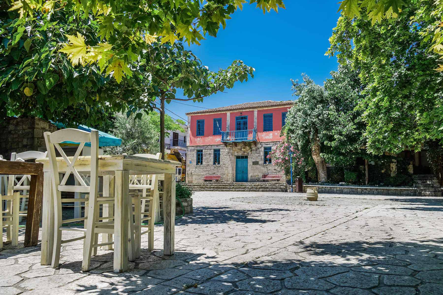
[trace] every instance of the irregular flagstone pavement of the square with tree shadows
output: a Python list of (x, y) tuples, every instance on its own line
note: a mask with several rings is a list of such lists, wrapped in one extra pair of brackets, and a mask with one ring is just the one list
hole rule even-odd
[(4, 249), (0, 294), (443, 295), (442, 211), (436, 197), (197, 192), (175, 255), (160, 250), (162, 226), (158, 250), (120, 274), (103, 250), (81, 272), (82, 241), (58, 269), (39, 247)]

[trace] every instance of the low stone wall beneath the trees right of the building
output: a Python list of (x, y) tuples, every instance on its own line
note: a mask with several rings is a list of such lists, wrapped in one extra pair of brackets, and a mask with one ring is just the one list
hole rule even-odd
[(342, 185), (314, 185), (304, 184), (303, 192), (307, 188), (317, 188), (319, 193), (329, 194), (358, 194), (358, 195), (417, 195), (416, 188), (387, 188), (387, 187), (355, 187)]

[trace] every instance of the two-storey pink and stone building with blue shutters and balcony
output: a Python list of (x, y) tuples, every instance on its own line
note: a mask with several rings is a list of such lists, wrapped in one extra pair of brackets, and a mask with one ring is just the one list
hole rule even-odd
[(187, 182), (202, 182), (205, 175), (247, 182), (282, 174), (266, 156), (281, 139), (292, 103), (266, 100), (187, 113)]

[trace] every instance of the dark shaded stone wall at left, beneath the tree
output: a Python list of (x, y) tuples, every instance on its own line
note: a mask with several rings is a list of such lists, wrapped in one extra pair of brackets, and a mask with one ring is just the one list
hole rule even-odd
[(46, 151), (43, 133), (54, 132), (57, 127), (48, 121), (31, 117), (8, 117), (0, 127), (0, 155), (9, 160), (11, 153), (28, 150)]

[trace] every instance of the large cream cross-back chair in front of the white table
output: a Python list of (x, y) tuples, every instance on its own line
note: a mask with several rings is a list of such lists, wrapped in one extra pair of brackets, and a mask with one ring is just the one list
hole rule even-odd
[[(44, 134), (46, 146), (48, 150), (49, 164), (51, 167), (52, 175), (52, 185), (53, 185), (53, 196), (54, 196), (54, 250), (52, 257), (52, 267), (57, 268), (60, 259), (60, 248), (62, 243), (68, 243), (71, 241), (78, 241), (84, 239), (83, 241), (83, 261), (82, 270), (88, 271), (91, 262), (91, 254), (93, 249), (100, 246), (111, 245), (113, 241), (108, 241), (106, 243), (98, 244), (97, 234), (113, 234), (114, 225), (113, 220), (100, 222), (103, 219), (113, 219), (113, 218), (100, 218), (99, 217), (99, 206), (100, 204), (110, 204), (113, 203), (113, 199), (100, 200), (97, 198), (98, 189), (98, 131), (92, 130), (91, 133), (78, 130), (78, 129), (62, 129), (55, 131), (53, 133), (45, 132)], [(79, 142), (77, 151), (74, 154), (72, 160), (66, 157), (66, 154), (60, 147), (59, 143), (64, 141)], [(80, 176), (80, 173), (75, 169), (74, 163), (77, 161), (78, 156), (82, 152), (85, 142), (91, 142), (91, 156), (90, 156), (90, 171), (83, 172), (89, 173), (90, 184), (87, 185), (85, 180)], [(58, 176), (58, 164), (55, 154), (55, 148), (62, 155), (64, 162), (66, 163), (66, 174), (60, 181)], [(78, 180), (80, 185), (66, 185), (66, 180), (70, 174), (74, 175), (74, 178)], [(81, 192), (87, 194), (85, 198), (80, 199), (62, 199), (61, 192)], [(85, 206), (85, 217), (73, 218), (62, 220), (62, 202), (87, 202)], [(130, 208), (128, 208), (130, 210)], [(131, 210), (132, 211), (132, 210)], [(78, 227), (68, 227), (63, 226), (63, 223), (75, 222), (85, 220), (85, 228)], [(131, 222), (130, 222), (131, 223)], [(62, 231), (80, 231), (84, 233), (83, 236), (78, 238), (72, 238), (69, 240), (62, 241)], [(130, 242), (133, 244), (133, 236), (130, 238)], [(132, 255), (131, 247), (130, 258)], [(94, 251), (95, 252), (95, 251)]]

